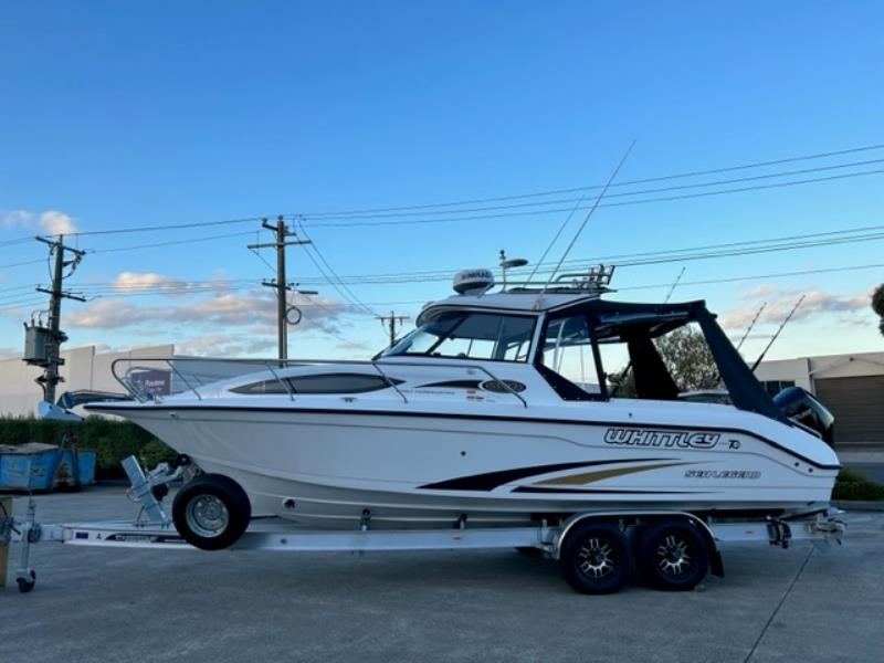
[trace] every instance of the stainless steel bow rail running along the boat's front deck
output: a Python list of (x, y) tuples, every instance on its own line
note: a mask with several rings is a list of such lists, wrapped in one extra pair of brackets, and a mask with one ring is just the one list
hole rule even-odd
[[(478, 364), (478, 360), (473, 362), (450, 362), (450, 360), (444, 359), (444, 364), (440, 364), (438, 360), (433, 361), (390, 361), (389, 357), (385, 358), (386, 360), (378, 359), (378, 360), (358, 360), (358, 359), (250, 359), (250, 358), (225, 358), (225, 357), (120, 357), (115, 359), (110, 365), (110, 372), (114, 376), (114, 379), (137, 401), (145, 402), (148, 400), (147, 396), (141, 392), (141, 390), (137, 389), (130, 378), (130, 373), (136, 370), (155, 370), (149, 367), (145, 366), (130, 366), (123, 376), (118, 372), (118, 366), (120, 362), (133, 364), (133, 362), (144, 362), (144, 361), (155, 361), (155, 362), (162, 362), (169, 367), (169, 369), (185, 383), (189, 391), (192, 391), (193, 394), (197, 397), (198, 400), (203, 400), (202, 394), (199, 392), (199, 387), (203, 387), (204, 385), (199, 385), (194, 387), (190, 380), (188, 380), (187, 376), (179, 370), (176, 364), (179, 362), (207, 362), (207, 364), (242, 364), (242, 365), (251, 365), (251, 366), (261, 366), (265, 370), (267, 370), (273, 378), (283, 386), (286, 393), (288, 394), (291, 400), (295, 400), (297, 396), (297, 390), (294, 389), (293, 385), (285, 379), (284, 377), (277, 373), (277, 369), (280, 365), (283, 365), (284, 368), (290, 368), (292, 366), (316, 366), (316, 365), (339, 365), (339, 366), (370, 366), (378, 375), (399, 394), (402, 401), (408, 404), (409, 400), (408, 397), (399, 389), (398, 385), (387, 375), (387, 372), (381, 368), (381, 365), (386, 367), (390, 366), (402, 366), (402, 367), (439, 367), (439, 366), (446, 366), (449, 368), (462, 368), (465, 370), (477, 370), (483, 372), (485, 376), (488, 377), (492, 381), (497, 385), (501, 385), (507, 393), (512, 394), (522, 403), (524, 408), (528, 407), (528, 402), (525, 398), (519, 394), (515, 389), (513, 389), (506, 380), (501, 379), (491, 370), (488, 370), (485, 366)], [(240, 373), (243, 375), (243, 373)], [(193, 376), (191, 376), (192, 378)], [(236, 376), (231, 376), (231, 378)], [(220, 381), (224, 378), (218, 377), (212, 381)]]

